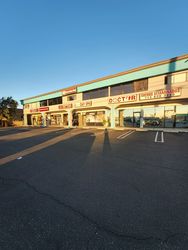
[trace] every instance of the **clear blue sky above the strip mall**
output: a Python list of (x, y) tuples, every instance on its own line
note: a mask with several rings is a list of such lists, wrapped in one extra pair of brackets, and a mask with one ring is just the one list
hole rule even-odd
[(187, 0), (0, 0), (0, 98), (187, 53)]

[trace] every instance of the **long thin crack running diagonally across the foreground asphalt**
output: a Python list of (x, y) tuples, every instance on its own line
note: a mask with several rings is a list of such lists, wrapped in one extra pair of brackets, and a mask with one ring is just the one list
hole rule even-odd
[[(136, 237), (136, 236), (133, 236), (133, 235), (120, 233), (120, 232), (115, 231), (115, 230), (110, 230), (109, 228), (106, 228), (105, 226), (100, 225), (98, 222), (91, 219), (89, 216), (85, 215), (80, 210), (75, 209), (71, 205), (57, 199), (53, 195), (39, 191), (35, 186), (31, 185), (29, 182), (27, 182), (25, 180), (17, 179), (17, 178), (5, 178), (5, 177), (1, 177), (1, 176), (0, 176), (0, 180), (1, 180), (3, 185), (6, 185), (7, 182), (9, 182), (9, 181), (22, 183), (25, 186), (27, 186), (28, 188), (32, 189), (35, 193), (37, 193), (39, 195), (42, 195), (42, 196), (45, 196), (45, 197), (49, 198), (50, 200), (56, 202), (57, 204), (59, 204), (61, 206), (64, 206), (65, 208), (71, 210), (73, 213), (77, 214), (79, 217), (82, 217), (84, 220), (88, 221), (90, 224), (95, 226), (95, 228), (96, 228), (95, 233), (97, 232), (97, 228), (98, 228), (99, 230), (101, 230), (101, 231), (103, 231), (105, 233), (111, 234), (111, 235), (113, 235), (115, 237), (118, 237), (118, 238), (126, 238), (126, 239), (129, 239), (129, 240), (135, 240), (135, 241), (148, 241), (148, 240), (154, 240), (155, 241), (156, 240), (156, 241), (160, 241), (161, 243), (167, 243), (171, 237), (179, 235), (178, 233), (170, 234), (165, 239), (158, 238), (158, 237), (153, 237), (153, 236), (149, 236), (149, 237), (145, 237), (145, 238), (139, 238), (139, 237)], [(88, 239), (88, 245), (89, 245), (89, 241), (90, 241), (90, 239)]]

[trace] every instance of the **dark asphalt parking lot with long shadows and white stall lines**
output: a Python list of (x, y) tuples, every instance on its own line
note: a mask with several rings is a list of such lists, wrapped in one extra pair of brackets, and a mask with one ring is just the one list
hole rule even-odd
[(0, 129), (0, 248), (187, 249), (188, 133)]

